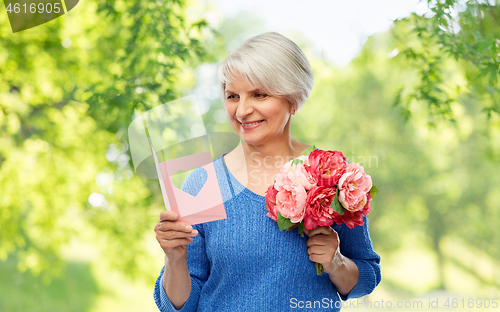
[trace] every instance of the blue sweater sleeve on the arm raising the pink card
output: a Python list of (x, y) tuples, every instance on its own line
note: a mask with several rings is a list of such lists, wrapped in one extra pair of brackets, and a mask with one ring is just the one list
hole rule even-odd
[[(206, 171), (204, 170), (193, 170), (182, 184), (181, 189), (192, 195), (198, 193), (198, 190), (203, 187), (206, 180), (206, 177), (203, 176), (204, 174), (206, 175)], [(156, 280), (154, 290), (154, 299), (161, 312), (191, 312), (196, 311), (198, 308), (201, 289), (210, 274), (210, 262), (207, 258), (205, 249), (205, 231), (203, 229), (203, 224), (195, 224), (193, 225), (193, 229), (198, 230), (198, 235), (193, 237), (193, 241), (188, 245), (186, 260), (191, 276), (191, 293), (182, 308), (180, 310), (175, 309), (163, 288), (162, 281), (165, 272), (165, 267), (163, 267), (160, 276)]]

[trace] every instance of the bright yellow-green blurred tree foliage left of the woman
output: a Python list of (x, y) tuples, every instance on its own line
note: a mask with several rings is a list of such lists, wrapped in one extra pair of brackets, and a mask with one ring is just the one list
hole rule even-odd
[(192, 85), (211, 36), (193, 4), (81, 2), (15, 34), (0, 14), (0, 259), (48, 280), (88, 234), (114, 267), (155, 275), (144, 237), (161, 195), (134, 176), (126, 129)]

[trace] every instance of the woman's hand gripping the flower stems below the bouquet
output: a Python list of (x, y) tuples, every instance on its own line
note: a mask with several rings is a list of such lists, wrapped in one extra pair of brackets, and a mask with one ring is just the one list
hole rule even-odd
[[(309, 260), (323, 265), (323, 271), (330, 274), (335, 270), (335, 261), (341, 257), (340, 240), (337, 232), (329, 226), (318, 226), (314, 230), (304, 229), (309, 236), (307, 253)], [(321, 235), (319, 235), (321, 234)]]

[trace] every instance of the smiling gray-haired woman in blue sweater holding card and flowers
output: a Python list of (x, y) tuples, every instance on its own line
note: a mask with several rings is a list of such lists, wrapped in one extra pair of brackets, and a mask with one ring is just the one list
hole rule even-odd
[[(160, 214), (155, 232), (165, 266), (154, 292), (160, 311), (338, 311), (341, 299), (371, 293), (381, 279), (380, 257), (366, 217), (363, 226), (334, 224), (301, 237), (266, 216), (265, 192), (283, 160), (308, 147), (290, 134), (291, 116), (313, 86), (303, 52), (278, 33), (264, 33), (224, 60), (219, 79), (242, 142), (213, 162), (227, 219), (189, 226), (173, 212)], [(195, 194), (203, 184), (195, 169), (182, 189)]]

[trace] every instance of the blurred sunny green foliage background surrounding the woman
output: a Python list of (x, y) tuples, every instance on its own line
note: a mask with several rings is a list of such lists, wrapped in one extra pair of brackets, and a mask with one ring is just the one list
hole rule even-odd
[[(500, 284), (500, 7), (461, 2), (453, 15), (456, 1), (429, 5), (432, 14), (371, 36), (343, 68), (285, 33), (315, 74), (294, 137), (343, 151), (380, 191), (375, 298), (491, 296)], [(126, 128), (136, 112), (199, 89), (201, 67), (269, 30), (249, 14), (216, 30), (192, 17), (209, 9), (81, 2), (16, 34), (0, 14), (0, 311), (155, 310), (163, 201), (157, 181), (133, 172)], [(209, 103), (207, 131), (230, 131), (220, 99)], [(106, 203), (90, 205), (92, 193)]]

